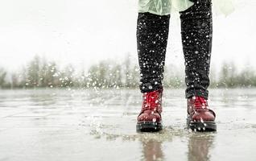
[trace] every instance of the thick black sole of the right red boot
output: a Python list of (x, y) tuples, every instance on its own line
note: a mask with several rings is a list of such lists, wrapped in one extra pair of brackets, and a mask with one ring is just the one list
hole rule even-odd
[(187, 118), (188, 129), (198, 132), (212, 132), (217, 131), (216, 122), (192, 122)]

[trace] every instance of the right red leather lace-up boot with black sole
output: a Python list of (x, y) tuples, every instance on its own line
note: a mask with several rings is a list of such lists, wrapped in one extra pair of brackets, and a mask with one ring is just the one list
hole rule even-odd
[(194, 131), (216, 131), (216, 114), (209, 109), (207, 100), (204, 97), (188, 98), (188, 128)]

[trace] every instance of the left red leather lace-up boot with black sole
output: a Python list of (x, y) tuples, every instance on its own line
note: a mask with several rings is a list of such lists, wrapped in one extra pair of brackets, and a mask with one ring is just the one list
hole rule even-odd
[(142, 110), (137, 118), (136, 130), (138, 132), (155, 132), (163, 129), (162, 94), (163, 89), (143, 93)]

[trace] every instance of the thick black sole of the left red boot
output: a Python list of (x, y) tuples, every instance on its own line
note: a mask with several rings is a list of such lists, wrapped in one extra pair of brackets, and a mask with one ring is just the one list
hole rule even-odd
[(137, 132), (157, 132), (163, 130), (161, 122), (138, 122), (136, 125)]

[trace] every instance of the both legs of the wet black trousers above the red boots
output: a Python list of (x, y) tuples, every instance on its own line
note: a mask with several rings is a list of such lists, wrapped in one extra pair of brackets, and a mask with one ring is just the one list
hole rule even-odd
[[(213, 19), (210, 0), (194, 0), (180, 12), (181, 38), (185, 59), (186, 97), (208, 99)], [(170, 15), (138, 13), (137, 43), (142, 93), (163, 88), (163, 68)]]

